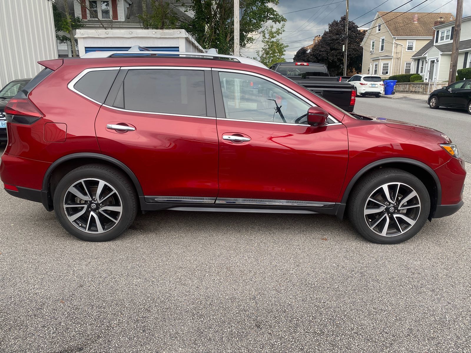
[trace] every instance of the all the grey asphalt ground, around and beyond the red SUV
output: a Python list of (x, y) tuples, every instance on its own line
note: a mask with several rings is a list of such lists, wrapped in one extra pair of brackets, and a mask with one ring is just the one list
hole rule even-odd
[[(471, 161), (465, 112), (356, 111), (438, 128)], [(90, 243), (2, 190), (0, 350), (471, 352), (470, 182), (458, 213), (398, 245), (325, 215), (175, 211)]]

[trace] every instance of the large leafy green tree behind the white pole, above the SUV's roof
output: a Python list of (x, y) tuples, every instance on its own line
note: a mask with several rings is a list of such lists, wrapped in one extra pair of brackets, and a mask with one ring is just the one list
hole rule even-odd
[[(278, 0), (240, 1), (240, 47), (253, 43), (251, 33), (260, 32), (271, 21), (280, 24), (286, 19), (271, 5)], [(189, 8), (188, 8), (189, 9)], [(232, 54), (234, 50), (234, 0), (193, 0), (193, 19), (183, 29), (195, 37), (203, 48), (216, 48), (219, 54)]]

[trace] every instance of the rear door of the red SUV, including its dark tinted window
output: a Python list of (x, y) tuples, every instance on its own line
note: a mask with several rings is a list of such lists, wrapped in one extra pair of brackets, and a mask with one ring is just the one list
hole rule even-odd
[(144, 195), (152, 196), (147, 201), (214, 203), (218, 137), (211, 70), (122, 69), (95, 128), (101, 152), (134, 172)]

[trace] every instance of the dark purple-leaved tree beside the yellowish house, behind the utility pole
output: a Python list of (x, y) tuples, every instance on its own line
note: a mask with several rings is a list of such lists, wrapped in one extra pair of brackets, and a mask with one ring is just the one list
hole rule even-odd
[[(363, 59), (363, 48), (360, 46), (365, 33), (358, 31), (358, 26), (349, 21), (349, 45), (347, 51), (347, 72), (361, 71)], [(343, 51), (342, 46), (345, 38), (345, 16), (340, 21), (334, 20), (329, 24), (329, 30), (325, 31), (321, 40), (315, 44), (307, 53), (308, 59), (313, 63), (326, 64), (332, 76), (343, 74)], [(302, 54), (298, 50), (295, 58)], [(305, 50), (305, 49), (304, 49)], [(297, 59), (296, 59), (297, 60)]]

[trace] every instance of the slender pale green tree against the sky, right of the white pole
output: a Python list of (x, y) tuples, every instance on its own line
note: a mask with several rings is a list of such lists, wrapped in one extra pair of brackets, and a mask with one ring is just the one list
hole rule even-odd
[(284, 24), (280, 28), (275, 28), (269, 25), (262, 33), (263, 48), (257, 50), (257, 57), (254, 59), (259, 60), (260, 63), (270, 67), (275, 63), (286, 61), (284, 59), (284, 52), (288, 48), (287, 44), (283, 44), (280, 36), (284, 32)]

